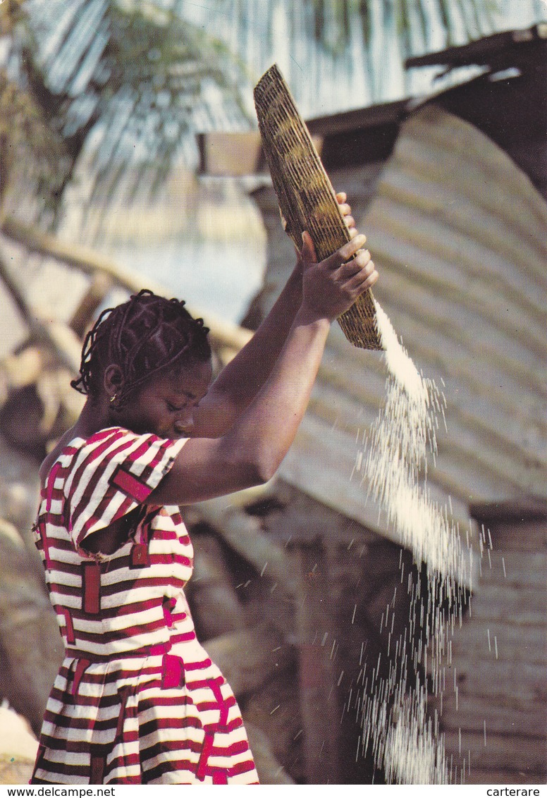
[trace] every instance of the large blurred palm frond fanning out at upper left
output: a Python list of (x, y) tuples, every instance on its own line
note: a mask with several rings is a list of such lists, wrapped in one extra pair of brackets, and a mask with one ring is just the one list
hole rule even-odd
[(26, 7), (26, 76), (71, 153), (67, 180), (93, 141), (92, 199), (107, 200), (112, 181), (132, 169), (157, 188), (196, 128), (247, 124), (240, 66), (226, 45), (172, 11), (115, 0)]

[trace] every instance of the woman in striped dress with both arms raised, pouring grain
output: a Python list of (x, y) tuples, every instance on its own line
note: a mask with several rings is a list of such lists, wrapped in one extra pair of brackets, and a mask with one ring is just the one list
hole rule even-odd
[(207, 328), (141, 291), (104, 311), (81, 417), (41, 467), (35, 538), (65, 642), (32, 784), (257, 784), (230, 686), (195, 638), (180, 504), (269, 480), (305, 413), (330, 322), (376, 282), (364, 236), (309, 235), (254, 338), (211, 382)]

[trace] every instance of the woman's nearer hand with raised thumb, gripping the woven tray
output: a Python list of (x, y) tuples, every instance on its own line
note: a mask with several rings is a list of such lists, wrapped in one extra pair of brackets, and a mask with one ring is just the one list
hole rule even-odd
[(314, 318), (333, 321), (375, 284), (378, 272), (370, 252), (362, 249), (365, 241), (356, 231), (351, 241), (317, 263), (312, 238), (308, 232), (302, 233), (302, 308)]

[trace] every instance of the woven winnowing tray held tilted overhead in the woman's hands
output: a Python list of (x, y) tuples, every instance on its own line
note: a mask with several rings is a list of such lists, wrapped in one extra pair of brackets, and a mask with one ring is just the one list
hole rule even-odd
[[(298, 249), (302, 232), (309, 231), (318, 259), (325, 260), (351, 239), (333, 186), (276, 64), (254, 87), (254, 105), (285, 231)], [(383, 348), (370, 290), (338, 322), (354, 346)]]

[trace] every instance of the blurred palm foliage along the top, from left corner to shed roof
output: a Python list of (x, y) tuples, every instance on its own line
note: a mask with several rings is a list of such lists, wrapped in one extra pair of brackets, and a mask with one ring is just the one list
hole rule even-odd
[[(17, 164), (21, 171), (19, 155), (10, 153), (26, 148), (27, 160), (39, 167), (36, 174), (43, 172), (37, 184), (46, 203), (61, 202), (84, 156), (91, 199), (108, 203), (120, 180), (129, 175), (134, 192), (154, 192), (188, 132), (242, 124), (246, 113), (238, 86), (246, 85), (246, 69), (226, 45), (183, 19), (188, 2), (0, 2), (0, 33), (12, 42), (21, 77), (19, 84), (12, 80), (10, 88), (18, 112), (10, 112), (8, 101), (0, 104), (0, 128), (3, 124), (2, 136), (8, 137), (2, 140), (10, 141), (2, 159), (0, 191), (6, 189), (7, 168)], [(207, 2), (211, 14), (229, 10), (241, 43), (236, 49), (244, 53), (245, 41), (254, 35), (249, 15), (254, 0)], [(355, 25), (362, 26), (367, 44), (386, 30), (396, 32), (410, 55), (412, 41), (428, 40), (432, 11), (445, 27), (447, 44), (452, 44), (461, 37), (462, 27), (469, 39), (490, 33), (498, 2), (298, 0), (291, 6), (287, 0), (287, 20), (292, 37), (291, 26), (304, 18), (317, 45), (334, 57), (347, 53)], [(253, 8), (256, 12), (258, 5)], [(266, 2), (260, 8), (266, 14), (263, 30), (273, 37), (277, 4)], [(273, 42), (265, 44), (271, 47)], [(2, 80), (6, 86), (7, 78)], [(53, 156), (52, 169), (51, 153), (61, 146), (64, 155)]]

